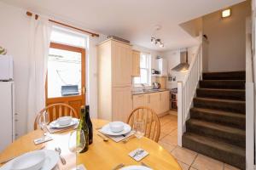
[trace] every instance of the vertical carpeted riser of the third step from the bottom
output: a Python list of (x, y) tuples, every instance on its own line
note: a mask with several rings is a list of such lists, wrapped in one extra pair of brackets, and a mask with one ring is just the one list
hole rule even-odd
[(219, 116), (208, 112), (194, 110), (190, 110), (190, 117), (207, 122), (216, 122), (225, 126), (246, 129), (246, 120), (241, 117)]

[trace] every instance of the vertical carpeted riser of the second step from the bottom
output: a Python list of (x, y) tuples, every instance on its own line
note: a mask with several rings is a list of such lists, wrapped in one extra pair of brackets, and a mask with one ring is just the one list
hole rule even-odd
[(239, 135), (236, 133), (227, 133), (217, 129), (212, 129), (209, 127), (199, 126), (186, 122), (186, 129), (189, 133), (195, 133), (206, 137), (211, 137), (214, 139), (219, 139), (229, 144), (235, 144), (237, 146), (245, 147), (246, 138), (245, 135)]

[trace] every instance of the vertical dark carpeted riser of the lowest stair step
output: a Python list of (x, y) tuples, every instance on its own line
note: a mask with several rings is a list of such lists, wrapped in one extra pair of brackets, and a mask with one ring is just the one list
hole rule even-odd
[(224, 150), (212, 148), (207, 144), (200, 144), (192, 139), (183, 137), (183, 147), (189, 150), (195, 150), (205, 156), (210, 156), (218, 161), (224, 161), (230, 165), (236, 166), (241, 169), (245, 169), (245, 157), (236, 154), (230, 154)]

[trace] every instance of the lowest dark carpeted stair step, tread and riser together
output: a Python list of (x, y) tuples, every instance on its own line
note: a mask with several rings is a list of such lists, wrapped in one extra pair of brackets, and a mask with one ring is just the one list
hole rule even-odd
[(246, 150), (218, 139), (212, 139), (195, 133), (183, 134), (183, 147), (195, 150), (205, 156), (245, 169)]

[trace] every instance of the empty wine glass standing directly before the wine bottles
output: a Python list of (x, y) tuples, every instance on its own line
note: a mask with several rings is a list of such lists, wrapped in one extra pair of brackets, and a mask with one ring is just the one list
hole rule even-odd
[(69, 141), (68, 141), (68, 149), (76, 154), (76, 168), (74, 170), (79, 170), (77, 166), (78, 154), (80, 151), (84, 150), (86, 144), (84, 131), (77, 129), (70, 133)]

